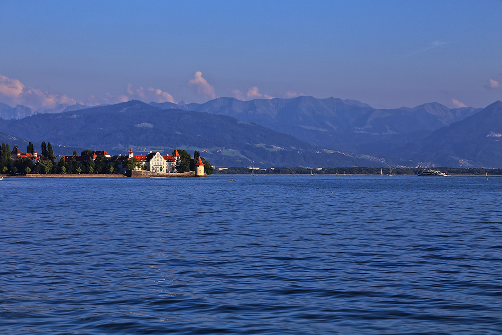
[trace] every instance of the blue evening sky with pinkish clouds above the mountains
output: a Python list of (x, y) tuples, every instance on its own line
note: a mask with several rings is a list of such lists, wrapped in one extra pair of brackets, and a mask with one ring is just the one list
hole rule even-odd
[(0, 102), (502, 99), (502, 1), (0, 0)]

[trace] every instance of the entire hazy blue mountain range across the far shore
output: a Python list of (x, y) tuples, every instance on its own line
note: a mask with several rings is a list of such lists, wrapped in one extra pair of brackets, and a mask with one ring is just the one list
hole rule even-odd
[(60, 105), (32, 110), (26, 118), (20, 116), (27, 107), (0, 104), (0, 132), (117, 153), (128, 147), (198, 150), (219, 166), (500, 167), (501, 104), (376, 109), (333, 97), (222, 97), (189, 104)]

